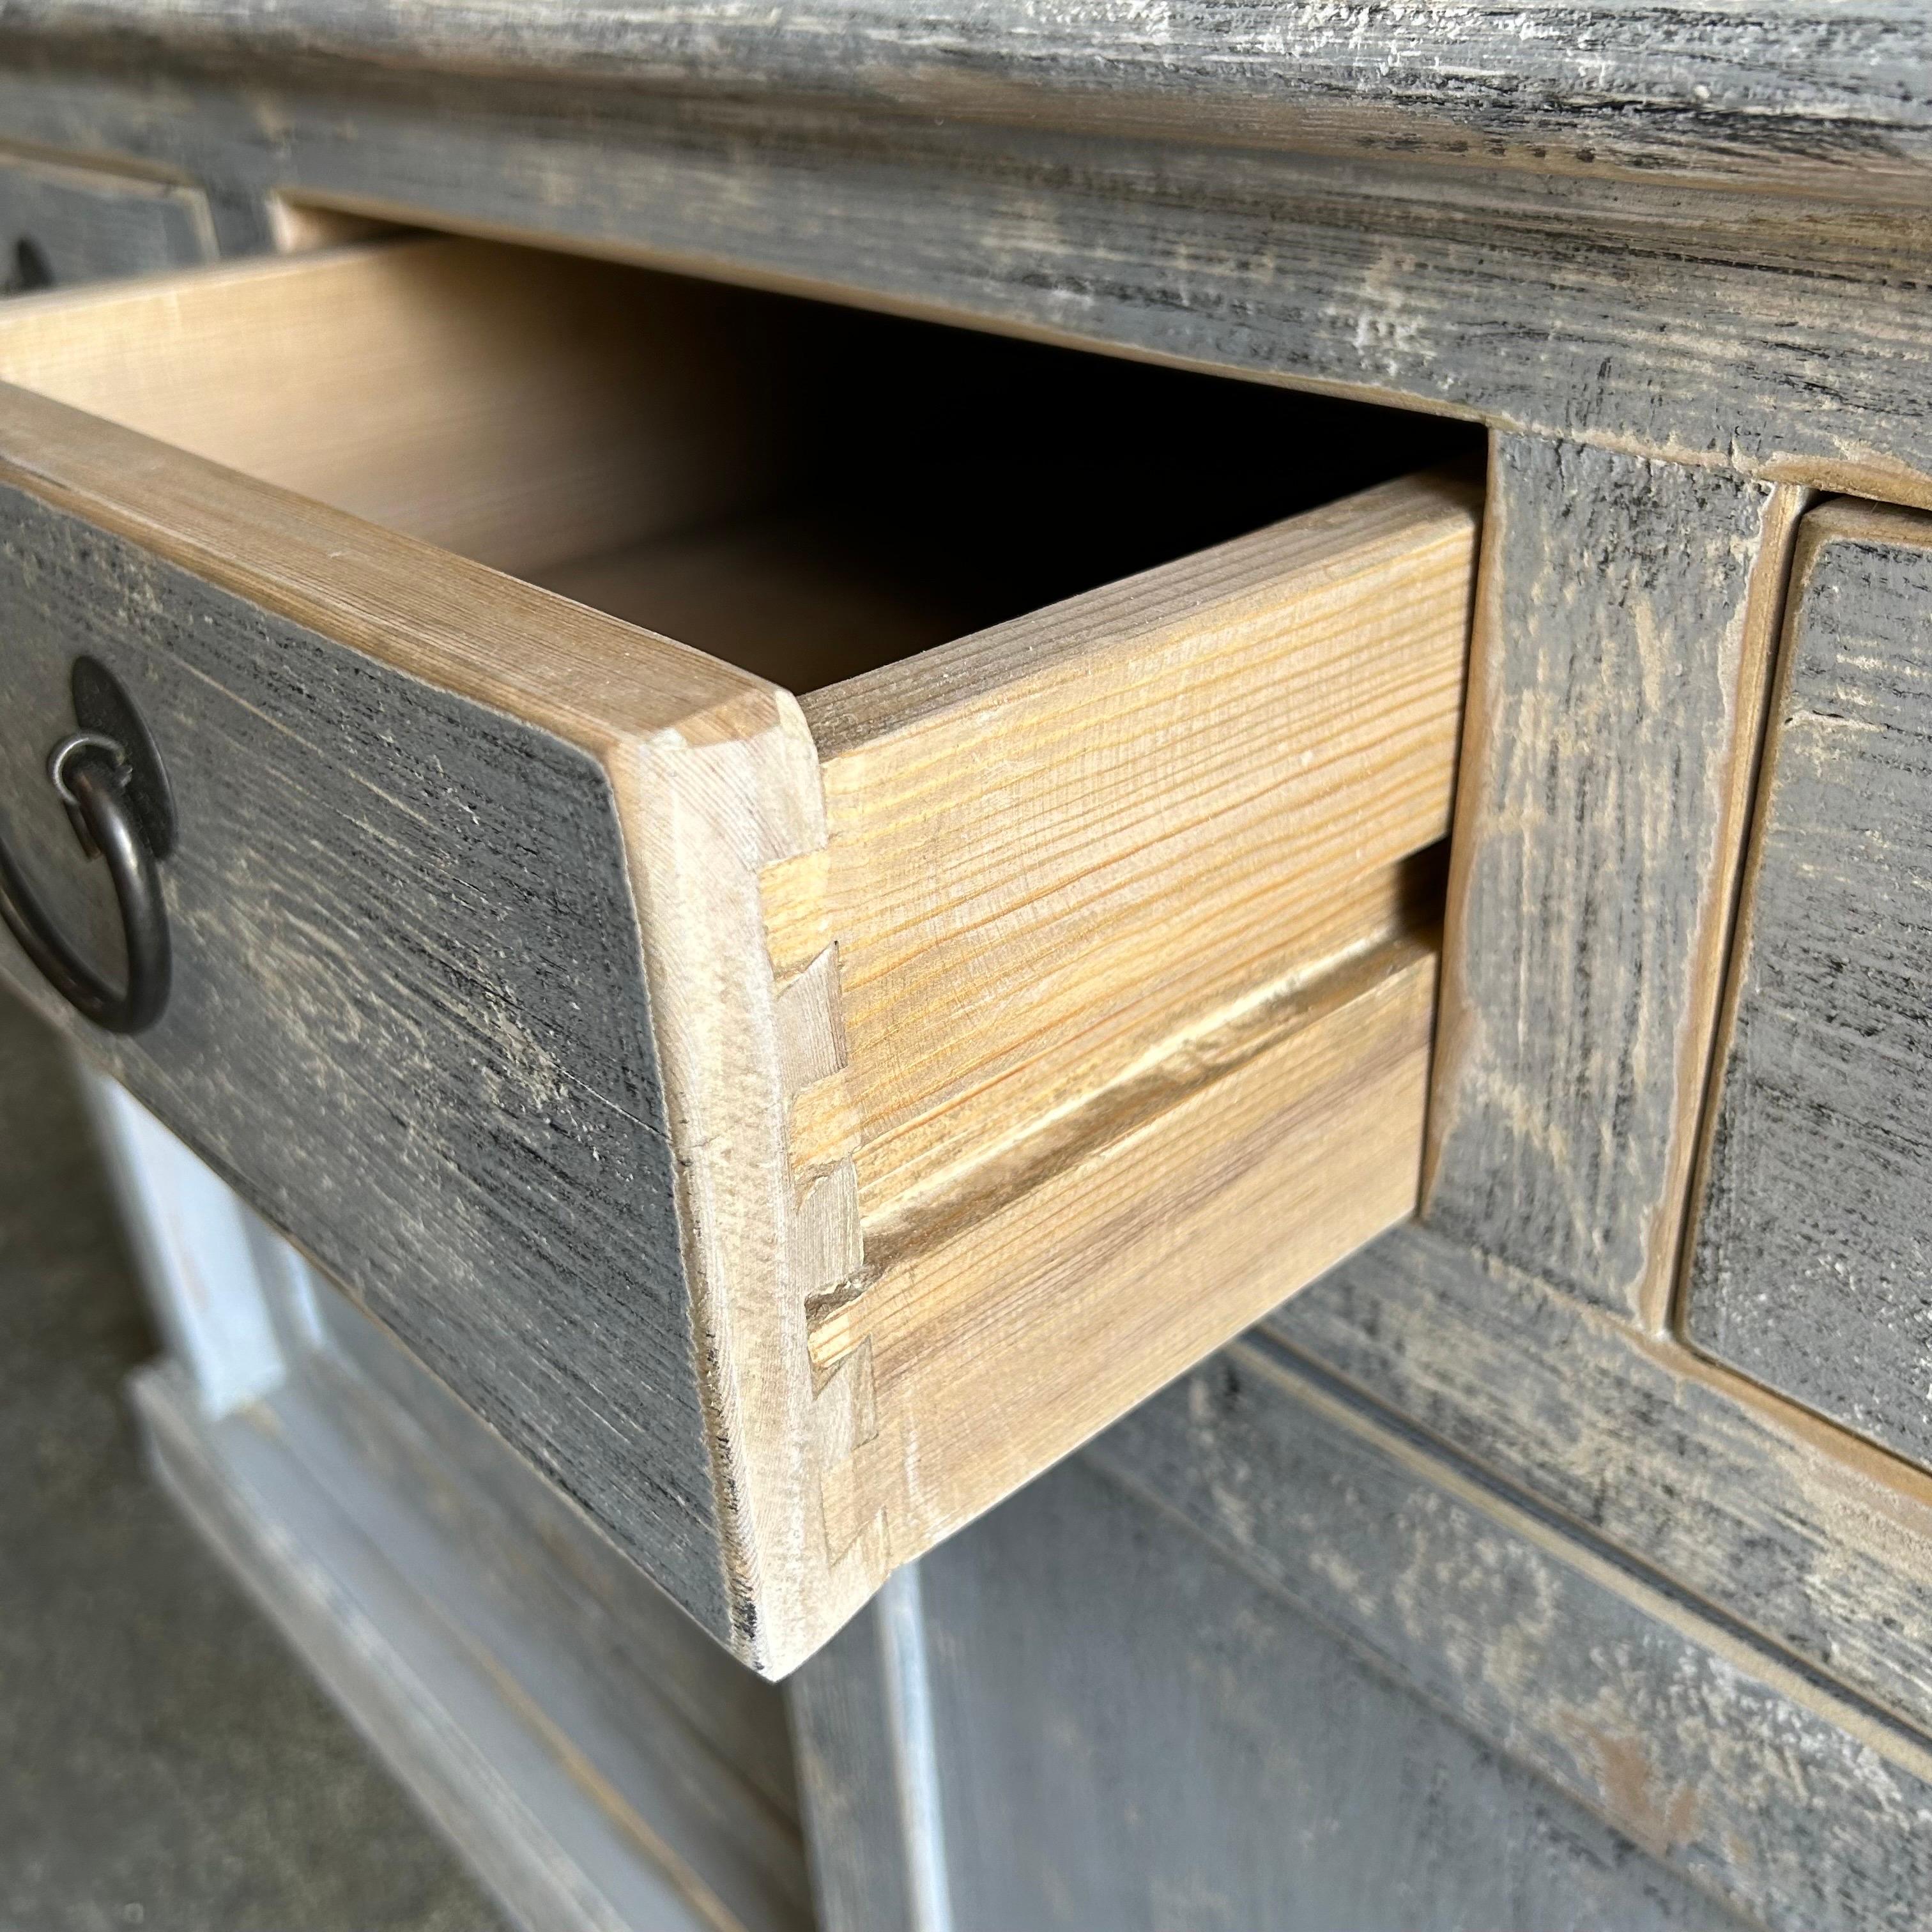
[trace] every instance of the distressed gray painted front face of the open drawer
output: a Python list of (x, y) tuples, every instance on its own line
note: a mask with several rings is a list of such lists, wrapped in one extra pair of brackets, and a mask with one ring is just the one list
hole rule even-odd
[(636, 914), (599, 767), (0, 497), (0, 800), (116, 912), (43, 759), (106, 661), (180, 808), (174, 999), (93, 1034), (4, 970), (711, 1631), (728, 1631)]

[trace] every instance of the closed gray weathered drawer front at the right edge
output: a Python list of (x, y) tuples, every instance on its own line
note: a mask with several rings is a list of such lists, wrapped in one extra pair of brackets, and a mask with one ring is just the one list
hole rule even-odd
[(1687, 1335), (1932, 1463), (1932, 518), (1804, 520)]

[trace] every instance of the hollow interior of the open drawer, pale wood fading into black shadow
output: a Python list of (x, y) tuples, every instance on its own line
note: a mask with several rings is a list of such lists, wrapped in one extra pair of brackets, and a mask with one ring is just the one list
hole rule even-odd
[(479, 242), (214, 270), (6, 377), (811, 692), (1466, 425)]

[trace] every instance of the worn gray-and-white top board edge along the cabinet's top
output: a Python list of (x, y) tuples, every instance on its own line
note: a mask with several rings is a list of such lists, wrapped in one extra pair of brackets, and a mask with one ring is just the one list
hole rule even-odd
[(906, 10), (815, 0), (14, 0), (4, 39), (64, 58), (328, 73), (435, 70), (1186, 133), (1466, 166), (1644, 172), (1909, 197), (1932, 156), (1932, 37), (1909, 4), (1318, 0), (1157, 15), (1078, 0)]

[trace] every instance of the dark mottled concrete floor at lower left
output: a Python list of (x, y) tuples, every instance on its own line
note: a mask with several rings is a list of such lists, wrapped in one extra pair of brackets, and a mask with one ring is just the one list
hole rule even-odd
[(66, 1061), (0, 991), (0, 1932), (498, 1932), (147, 1480), (153, 1352)]

